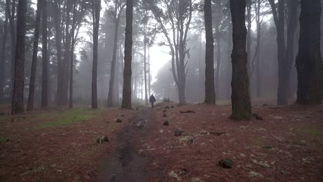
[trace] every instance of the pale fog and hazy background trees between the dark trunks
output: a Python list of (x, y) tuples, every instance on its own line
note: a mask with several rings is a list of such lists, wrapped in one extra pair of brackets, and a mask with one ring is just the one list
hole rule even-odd
[[(17, 2), (16, 2), (17, 3)], [(34, 41), (35, 25), (37, 24), (36, 10), (37, 1), (28, 1), (27, 32), (26, 32), (26, 53), (24, 65), (24, 99), (28, 99), (30, 89), (30, 72), (32, 67), (32, 44)], [(153, 3), (153, 5), (152, 5)], [(190, 3), (190, 5), (188, 5)], [(277, 1), (275, 5), (278, 6)], [(2, 101), (10, 103), (12, 90), (12, 39), (10, 39), (10, 22), (6, 22), (6, 1), (0, 1), (1, 17), (0, 28), (1, 39), (5, 39), (5, 53), (3, 61), (3, 93)], [(48, 30), (48, 101), (50, 107), (57, 105), (57, 98), (60, 87), (70, 88), (68, 84), (70, 75), (70, 54), (66, 53), (66, 31), (72, 33), (75, 45), (71, 45), (73, 55), (72, 69), (72, 101), (76, 105), (89, 105), (91, 101), (92, 83), (92, 54), (93, 54), (93, 17), (90, 1), (73, 1), (70, 3), (70, 14), (66, 14), (66, 1), (52, 0), (47, 3), (47, 30)], [(206, 33), (204, 27), (203, 1), (189, 1), (182, 4), (182, 20), (179, 17), (171, 17), (178, 10), (172, 9), (172, 5), (166, 1), (135, 1), (133, 9), (133, 59), (132, 59), (132, 100), (134, 105), (145, 103), (150, 94), (155, 94), (157, 101), (170, 100), (181, 102), (180, 95), (184, 92), (184, 101), (188, 103), (201, 103), (205, 98), (206, 82)], [(290, 8), (291, 2), (284, 4), (284, 47), (288, 49), (287, 35), (290, 30), (290, 22), (293, 17), (298, 17), (300, 7), (296, 10)], [(156, 11), (157, 7), (161, 12)], [(175, 6), (174, 6), (175, 7)], [(174, 8), (173, 7), (173, 8)], [(57, 10), (60, 11), (57, 15)], [(277, 7), (278, 10), (278, 7)], [(277, 13), (275, 9), (275, 12)], [(155, 12), (154, 12), (155, 11)], [(17, 13), (17, 12), (16, 12)], [(159, 15), (158, 15), (159, 13)], [(219, 0), (212, 3), (212, 24), (214, 38), (214, 82), (215, 95), (218, 104), (229, 104), (231, 102), (231, 53), (233, 50), (233, 27), (231, 22), (231, 11), (228, 0)], [(158, 17), (158, 16), (160, 17)], [(59, 16), (59, 20), (57, 17)], [(277, 16), (275, 14), (274, 16)], [(70, 19), (68, 28), (66, 21)], [(246, 48), (248, 54), (248, 78), (249, 93), (253, 103), (268, 102), (276, 103), (277, 90), (279, 85), (279, 68), (277, 60), (277, 28), (273, 19), (273, 6), (269, 1), (252, 0), (247, 1), (246, 6), (246, 28), (248, 30)], [(297, 19), (298, 20), (298, 19)], [(13, 24), (17, 21), (13, 17)], [(57, 21), (59, 23), (57, 24)], [(184, 22), (184, 26), (178, 27), (178, 22)], [(7, 33), (4, 32), (4, 25), (8, 23)], [(73, 25), (73, 23), (75, 23)], [(41, 23), (40, 23), (41, 24)], [(117, 24), (117, 38), (115, 30)], [(58, 26), (57, 26), (58, 25)], [(16, 25), (17, 26), (17, 25)], [(42, 24), (40, 25), (42, 27)], [(59, 27), (59, 29), (57, 29)], [(74, 28), (74, 29), (73, 29)], [(97, 99), (100, 105), (108, 104), (109, 83), (111, 79), (111, 68), (113, 54), (115, 53), (115, 73), (112, 88), (113, 105), (121, 105), (122, 90), (124, 84), (124, 48), (126, 28), (126, 1), (101, 1), (101, 15), (99, 19), (98, 59), (97, 59)], [(181, 29), (182, 28), (182, 29)], [(187, 29), (187, 32), (185, 30)], [(59, 61), (57, 59), (57, 36), (61, 31), (61, 61), (66, 63), (66, 74), (63, 74), (61, 83), (59, 80)], [(183, 32), (179, 35), (179, 32)], [(42, 58), (42, 37), (37, 51), (37, 72), (35, 79), (35, 107), (41, 105), (43, 61)], [(183, 36), (185, 39), (183, 39)], [(296, 21), (293, 30), (293, 45), (291, 57), (290, 79), (288, 79), (288, 103), (295, 102), (297, 94), (297, 72), (295, 59), (298, 50), (298, 37), (300, 37), (300, 24)], [(168, 40), (168, 38), (170, 38)], [(174, 39), (173, 39), (174, 38)], [(177, 40), (176, 40), (177, 39)], [(177, 45), (182, 41), (183, 50)], [(3, 43), (2, 43), (3, 45)], [(178, 46), (182, 46), (178, 45)], [(173, 48), (172, 48), (173, 46)], [(172, 53), (172, 49), (177, 51)], [(114, 51), (115, 50), (115, 51)], [(290, 50), (290, 49), (289, 49)], [(182, 51), (182, 52), (181, 52)], [(183, 54), (182, 54), (183, 53)], [(286, 53), (287, 54), (287, 53)], [(146, 58), (146, 59), (145, 59)], [(183, 61), (179, 65), (172, 65), (172, 58)], [(66, 62), (67, 61), (67, 62)], [(145, 64), (146, 63), (146, 64)], [(146, 65), (146, 66), (145, 66)], [(182, 66), (182, 68), (179, 68)], [(146, 67), (146, 70), (145, 70)], [(174, 70), (177, 70), (173, 74)], [(179, 72), (179, 70), (181, 70)], [(289, 68), (288, 68), (289, 69)], [(146, 74), (146, 78), (145, 78)], [(175, 78), (176, 77), (176, 78)], [(177, 80), (176, 80), (177, 79)], [(146, 84), (145, 84), (146, 81)], [(66, 82), (66, 83), (65, 83)], [(177, 83), (178, 82), (178, 83)], [(182, 83), (181, 83), (182, 82)], [(62, 84), (62, 85), (61, 85)], [(111, 85), (111, 83), (110, 83)], [(184, 88), (179, 93), (179, 85)], [(146, 92), (145, 92), (146, 87)], [(63, 89), (64, 90), (64, 89)], [(145, 97), (146, 94), (146, 97)]]

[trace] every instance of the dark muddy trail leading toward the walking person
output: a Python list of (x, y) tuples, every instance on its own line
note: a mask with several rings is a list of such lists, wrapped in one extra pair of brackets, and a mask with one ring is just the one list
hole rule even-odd
[(135, 149), (138, 139), (148, 135), (150, 128), (155, 125), (155, 114), (151, 108), (141, 108), (139, 112), (128, 121), (128, 125), (117, 135), (117, 149), (104, 164), (99, 175), (99, 181), (109, 182), (141, 182), (148, 181), (144, 166), (148, 159)]

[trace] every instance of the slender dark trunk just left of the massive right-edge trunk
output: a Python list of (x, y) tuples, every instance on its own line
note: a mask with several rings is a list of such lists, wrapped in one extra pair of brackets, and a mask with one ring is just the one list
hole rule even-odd
[[(286, 85), (284, 91), (286, 91), (286, 95), (288, 95), (288, 99), (293, 98), (292, 84), (291, 84), (291, 73), (293, 70), (294, 63), (294, 46), (295, 46), (295, 32), (297, 28), (297, 7), (299, 6), (300, 1), (288, 0), (287, 8), (288, 8), (288, 26), (287, 26), (287, 47), (286, 47)], [(286, 103), (287, 104), (287, 103)]]

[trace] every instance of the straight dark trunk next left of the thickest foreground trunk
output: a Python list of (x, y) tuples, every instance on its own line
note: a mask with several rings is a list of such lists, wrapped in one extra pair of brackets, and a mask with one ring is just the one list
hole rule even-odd
[(206, 32), (205, 51), (205, 99), (204, 103), (215, 104), (214, 61), (213, 61), (213, 28), (212, 28), (212, 3), (204, 1), (204, 22)]

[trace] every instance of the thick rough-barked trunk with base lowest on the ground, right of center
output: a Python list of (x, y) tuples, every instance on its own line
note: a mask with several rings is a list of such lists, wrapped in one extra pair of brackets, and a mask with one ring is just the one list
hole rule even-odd
[(246, 54), (245, 0), (230, 0), (233, 23), (232, 58), (232, 115), (234, 120), (251, 119), (251, 102), (248, 92), (248, 70)]

